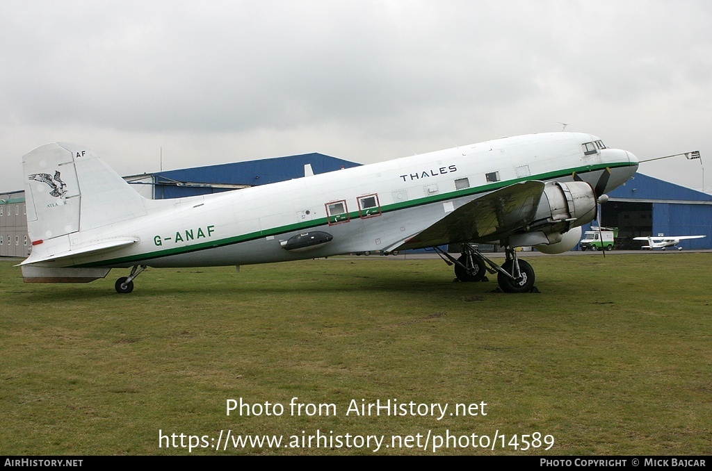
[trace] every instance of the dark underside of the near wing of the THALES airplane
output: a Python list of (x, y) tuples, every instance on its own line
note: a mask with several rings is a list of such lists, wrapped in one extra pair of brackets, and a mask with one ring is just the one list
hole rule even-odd
[(543, 191), (543, 181), (537, 180), (493, 191), (460, 206), (392, 250), (499, 240), (533, 220)]

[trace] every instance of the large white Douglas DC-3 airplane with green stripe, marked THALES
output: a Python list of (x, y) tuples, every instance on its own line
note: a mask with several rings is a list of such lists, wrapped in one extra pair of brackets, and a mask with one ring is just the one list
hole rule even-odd
[[(638, 168), (590, 134), (506, 137), (220, 194), (150, 200), (89, 149), (46, 144), (23, 157), (32, 250), (26, 282), (90, 282), (147, 266), (247, 265), (434, 247), (459, 280), (497, 273), (528, 292), (534, 270), (515, 248), (562, 253), (597, 202)], [(461, 243), (454, 258), (437, 249)], [(501, 266), (473, 243), (506, 248)]]

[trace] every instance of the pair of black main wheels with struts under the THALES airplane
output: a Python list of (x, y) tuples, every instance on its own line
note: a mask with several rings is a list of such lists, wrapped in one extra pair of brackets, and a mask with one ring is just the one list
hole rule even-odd
[[(448, 265), (455, 265), (455, 276), (462, 282), (486, 280), (487, 272), (497, 274), (497, 283), (504, 292), (531, 292), (534, 287), (534, 269), (529, 263), (517, 258), (513, 248), (506, 248), (506, 261), (500, 266), (482, 255), (471, 244), (461, 244), (462, 255), (454, 258), (449, 253), (434, 248)], [(489, 267), (487, 266), (489, 265)]]

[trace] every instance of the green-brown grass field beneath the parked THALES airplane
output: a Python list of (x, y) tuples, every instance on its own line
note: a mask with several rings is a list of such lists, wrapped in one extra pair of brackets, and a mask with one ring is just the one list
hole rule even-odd
[[(0, 454), (188, 454), (159, 430), (177, 444), (185, 434), (185, 445), (188, 435), (215, 445), (230, 430), (283, 444), (191, 453), (369, 455), (373, 443), (355, 437), (384, 435), (378, 454), (708, 455), (712, 254), (529, 261), (540, 294), (453, 282), (439, 260), (372, 257), (150, 269), (117, 295), (127, 270), (87, 285), (23, 284), (4, 260)], [(292, 414), (294, 397), (335, 413)], [(284, 412), (227, 416), (226, 401), (240, 398)], [(362, 399), (449, 408), (441, 420), (346, 415)], [(449, 415), (482, 402), (486, 416)], [(331, 446), (302, 448), (317, 430)], [(392, 435), (417, 445), (428, 433), (428, 450), (391, 446)], [(533, 433), (539, 447), (509, 445)], [(352, 446), (337, 446), (346, 434)], [(447, 434), (468, 444), (434, 452)], [(494, 449), (472, 448), (473, 434), (478, 446), (497, 435)], [(298, 448), (285, 446), (291, 435)]]

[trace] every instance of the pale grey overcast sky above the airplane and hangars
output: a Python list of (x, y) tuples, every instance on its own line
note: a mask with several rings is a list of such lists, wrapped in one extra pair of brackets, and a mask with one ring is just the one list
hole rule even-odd
[[(699, 149), (712, 190), (712, 1), (1, 0), (0, 191), (78, 142), (120, 174), (321, 152), (372, 163), (590, 132)], [(651, 176), (701, 189), (677, 157)]]

